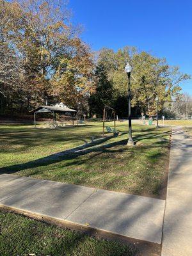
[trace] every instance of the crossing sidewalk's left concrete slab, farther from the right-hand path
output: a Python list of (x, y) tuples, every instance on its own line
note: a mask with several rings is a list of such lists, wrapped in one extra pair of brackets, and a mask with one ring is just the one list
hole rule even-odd
[[(35, 179), (34, 179), (35, 180)], [(42, 180), (42, 182), (1, 200), (1, 204), (65, 220), (95, 189)]]

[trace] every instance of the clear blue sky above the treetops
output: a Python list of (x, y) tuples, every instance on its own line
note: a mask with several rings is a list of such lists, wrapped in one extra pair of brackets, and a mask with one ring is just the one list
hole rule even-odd
[[(192, 75), (192, 1), (70, 0), (69, 7), (93, 50), (136, 46)], [(182, 88), (192, 95), (192, 80)]]

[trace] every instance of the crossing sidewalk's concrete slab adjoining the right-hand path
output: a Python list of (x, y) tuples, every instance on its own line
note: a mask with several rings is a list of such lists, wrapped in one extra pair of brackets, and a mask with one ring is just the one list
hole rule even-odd
[(67, 220), (161, 244), (164, 200), (99, 189)]

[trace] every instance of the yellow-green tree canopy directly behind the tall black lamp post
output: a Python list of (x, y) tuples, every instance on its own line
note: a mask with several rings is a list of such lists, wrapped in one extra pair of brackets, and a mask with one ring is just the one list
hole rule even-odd
[(98, 79), (105, 74), (105, 81), (102, 81), (102, 84), (108, 84), (110, 95), (108, 104), (116, 108), (120, 115), (127, 113), (127, 110), (124, 111), (127, 109), (127, 74), (124, 72), (127, 61), (133, 67), (131, 90), (135, 113), (155, 115), (156, 97), (159, 99), (159, 109), (162, 109), (166, 100), (177, 97), (181, 92), (180, 83), (189, 79), (188, 74), (179, 71), (179, 67), (171, 67), (165, 59), (152, 56), (148, 52), (139, 52), (136, 47), (124, 47), (116, 52), (111, 49), (101, 49), (97, 56), (97, 72), (95, 72), (96, 91), (91, 98), (98, 97), (99, 105), (101, 102), (105, 104), (108, 99), (105, 95), (108, 94), (107, 92), (99, 95)]

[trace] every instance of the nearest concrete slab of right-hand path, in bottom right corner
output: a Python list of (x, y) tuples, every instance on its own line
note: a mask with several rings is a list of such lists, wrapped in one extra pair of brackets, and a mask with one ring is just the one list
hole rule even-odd
[(192, 255), (192, 193), (169, 189), (162, 256)]

